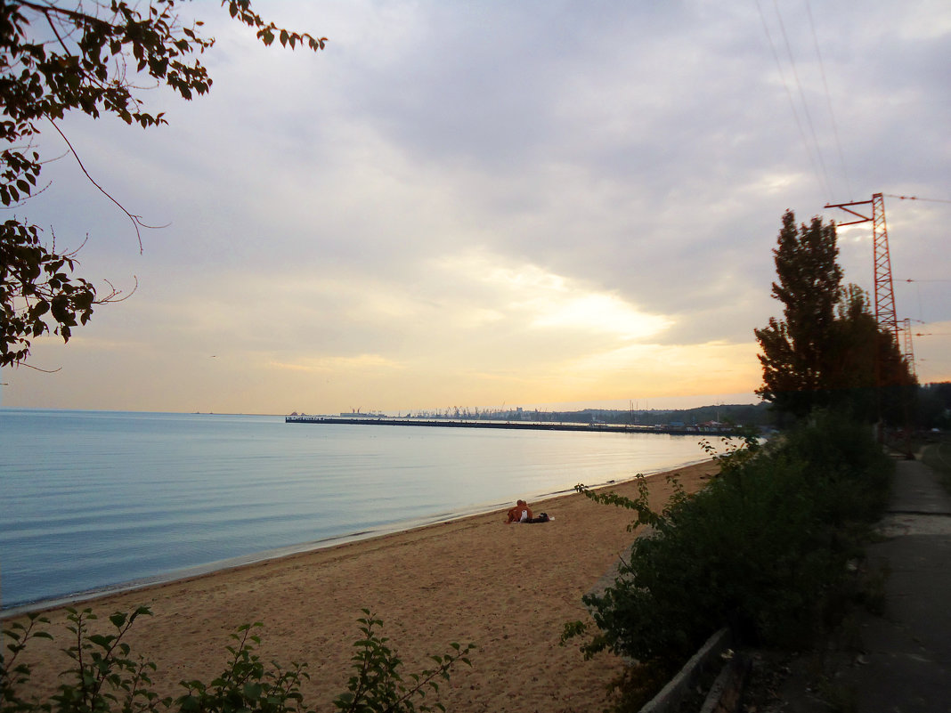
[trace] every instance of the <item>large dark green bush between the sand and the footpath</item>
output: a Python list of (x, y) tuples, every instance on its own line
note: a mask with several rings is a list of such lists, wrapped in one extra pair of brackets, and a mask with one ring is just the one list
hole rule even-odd
[[(586, 655), (610, 649), (672, 671), (722, 626), (780, 646), (802, 644), (821, 626), (846, 561), (861, 551), (853, 523), (881, 511), (891, 462), (869, 429), (826, 414), (717, 458), (721, 472), (708, 487), (676, 491), (660, 513), (648, 508), (643, 480), (627, 502), (578, 487), (652, 528), (614, 584), (584, 597), (597, 625)], [(584, 629), (567, 626), (566, 637)]]

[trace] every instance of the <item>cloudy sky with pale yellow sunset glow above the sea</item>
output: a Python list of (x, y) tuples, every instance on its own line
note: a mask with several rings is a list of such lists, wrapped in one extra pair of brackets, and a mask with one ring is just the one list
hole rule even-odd
[[(99, 306), (0, 406), (406, 414), (753, 403), (786, 209), (884, 195), (898, 318), (951, 380), (951, 5), (274, 0), (318, 54), (186, 4), (214, 84), (47, 131), (17, 208)], [(142, 83), (146, 85), (145, 82)], [(919, 200), (902, 200), (900, 196)], [(840, 230), (873, 290), (869, 224)], [(46, 371), (40, 371), (40, 370)], [(52, 372), (52, 373), (49, 373)]]

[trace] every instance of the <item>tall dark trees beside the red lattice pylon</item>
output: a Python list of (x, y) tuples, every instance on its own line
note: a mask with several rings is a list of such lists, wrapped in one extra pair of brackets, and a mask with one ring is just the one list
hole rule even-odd
[(783, 319), (755, 330), (762, 354), (763, 386), (757, 391), (785, 414), (815, 408), (845, 409), (876, 420), (900, 420), (902, 389), (914, 384), (888, 330), (871, 315), (856, 285), (842, 285), (834, 223), (813, 218), (797, 226), (783, 216), (773, 250), (777, 281), (772, 296)]

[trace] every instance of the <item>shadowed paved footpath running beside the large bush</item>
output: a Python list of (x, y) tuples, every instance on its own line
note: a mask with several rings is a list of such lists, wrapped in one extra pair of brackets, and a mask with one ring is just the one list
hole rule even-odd
[(885, 539), (866, 549), (889, 572), (884, 615), (864, 620), (840, 683), (857, 713), (951, 713), (951, 496), (919, 461), (897, 465)]

